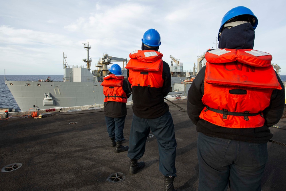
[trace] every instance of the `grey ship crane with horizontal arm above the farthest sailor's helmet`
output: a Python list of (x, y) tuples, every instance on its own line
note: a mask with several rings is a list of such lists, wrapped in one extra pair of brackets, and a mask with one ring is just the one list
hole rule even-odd
[(127, 58), (108, 56), (108, 53), (103, 53), (103, 57), (100, 58), (100, 60), (98, 61), (98, 65), (96, 66), (99, 68), (99, 70), (102, 70), (102, 76), (107, 76), (108, 74), (107, 66), (108, 64), (112, 64), (112, 62), (123, 62), (123, 68), (124, 68), (124, 64), (127, 63)]

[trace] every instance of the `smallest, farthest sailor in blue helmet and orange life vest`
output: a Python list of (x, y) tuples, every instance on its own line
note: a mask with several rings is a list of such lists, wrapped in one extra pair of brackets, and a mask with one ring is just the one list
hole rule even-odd
[(128, 150), (128, 146), (123, 146), (122, 141), (125, 140), (123, 129), (130, 91), (118, 64), (112, 64), (108, 70), (109, 74), (103, 78), (104, 81), (101, 83), (105, 95), (104, 115), (111, 146), (116, 146), (115, 152), (119, 153)]

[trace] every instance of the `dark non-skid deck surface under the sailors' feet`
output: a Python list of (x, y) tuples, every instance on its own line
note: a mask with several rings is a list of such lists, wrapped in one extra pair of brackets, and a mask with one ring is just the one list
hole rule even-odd
[[(186, 109), (187, 101), (174, 101)], [(175, 188), (198, 189), (196, 126), (186, 112), (168, 102), (177, 140)], [(132, 106), (128, 106), (123, 145), (129, 144)], [(22, 166), (0, 172), (0, 190), (163, 190), (164, 176), (159, 172), (156, 137), (146, 142), (139, 160), (145, 167), (128, 174), (127, 152), (115, 153), (110, 147), (102, 110), (55, 113), (41, 119), (10, 118), (0, 121), (0, 169), (10, 164)], [(69, 124), (77, 122), (76, 124)], [(286, 129), (286, 119), (277, 126)], [(286, 130), (271, 127), (272, 140), (286, 143)], [(152, 132), (150, 132), (152, 134)], [(262, 178), (262, 190), (285, 190), (286, 147), (268, 143), (269, 162)], [(123, 181), (110, 182), (119, 173)], [(122, 175), (122, 176), (120, 176)], [(112, 180), (112, 179), (111, 179)], [(119, 180), (119, 179), (116, 179)]]

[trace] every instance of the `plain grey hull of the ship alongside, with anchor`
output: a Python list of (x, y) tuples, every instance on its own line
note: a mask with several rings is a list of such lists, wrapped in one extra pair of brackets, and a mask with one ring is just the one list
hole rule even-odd
[(5, 83), (21, 111), (35, 107), (49, 109), (104, 103), (101, 82), (5, 81)]

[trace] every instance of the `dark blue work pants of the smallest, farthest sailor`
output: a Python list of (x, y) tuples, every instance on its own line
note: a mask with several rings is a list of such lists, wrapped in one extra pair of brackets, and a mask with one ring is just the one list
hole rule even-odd
[(125, 117), (126, 116), (123, 116), (120, 118), (112, 118), (112, 117), (105, 116), (108, 136), (110, 138), (115, 137), (115, 141), (125, 140), (123, 136)]

